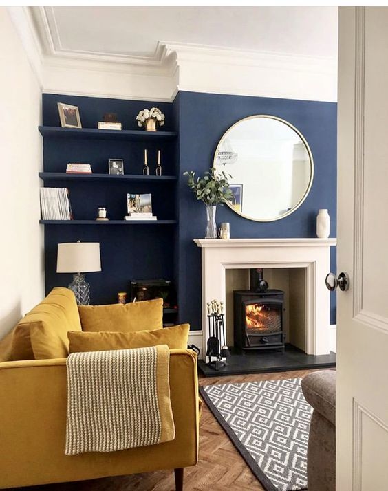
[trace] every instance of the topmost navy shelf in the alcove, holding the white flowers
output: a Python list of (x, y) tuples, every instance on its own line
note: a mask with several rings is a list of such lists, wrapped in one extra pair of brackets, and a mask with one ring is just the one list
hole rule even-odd
[(82, 138), (84, 140), (153, 140), (175, 138), (175, 131), (115, 130), (95, 128), (61, 128), (40, 126), (39, 131), (44, 137), (51, 138)]

